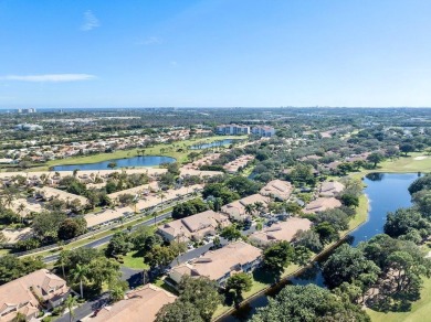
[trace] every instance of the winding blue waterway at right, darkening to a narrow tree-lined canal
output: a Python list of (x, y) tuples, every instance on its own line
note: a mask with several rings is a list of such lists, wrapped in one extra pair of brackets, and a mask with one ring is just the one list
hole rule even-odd
[[(409, 185), (418, 179), (417, 173), (372, 173), (364, 179), (367, 187), (365, 193), (368, 195), (370, 202), (370, 210), (368, 222), (355, 229), (347, 238), (348, 243), (357, 246), (360, 242), (366, 242), (372, 236), (383, 232), (386, 215), (388, 212), (393, 212), (400, 207), (409, 207), (411, 205), (411, 197), (408, 191)], [(325, 260), (329, 254), (323, 256), (319, 260)], [(267, 304), (267, 296), (275, 296), (286, 285), (308, 285), (315, 283), (325, 287), (324, 279), (316, 262), (309, 269), (301, 272), (295, 278), (283, 281), (278, 286), (270, 289), (266, 294), (256, 297), (249, 303), (242, 305), (239, 310), (233, 312), (219, 321), (233, 322), (248, 320), (257, 308)]]

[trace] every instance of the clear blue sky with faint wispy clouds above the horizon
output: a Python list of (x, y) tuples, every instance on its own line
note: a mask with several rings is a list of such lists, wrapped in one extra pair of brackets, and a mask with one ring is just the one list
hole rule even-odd
[(0, 108), (431, 106), (429, 0), (0, 0)]

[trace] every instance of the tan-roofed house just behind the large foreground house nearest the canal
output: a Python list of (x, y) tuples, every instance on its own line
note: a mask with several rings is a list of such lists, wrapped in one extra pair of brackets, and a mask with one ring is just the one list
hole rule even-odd
[(175, 238), (181, 238), (183, 242), (201, 240), (208, 235), (216, 235), (218, 228), (227, 227), (230, 224), (227, 215), (207, 211), (160, 225), (157, 233), (168, 242)]

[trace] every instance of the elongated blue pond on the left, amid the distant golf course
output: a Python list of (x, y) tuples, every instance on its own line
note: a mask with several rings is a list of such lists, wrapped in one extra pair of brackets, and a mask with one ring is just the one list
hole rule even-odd
[(133, 167), (155, 167), (160, 165), (161, 163), (171, 163), (176, 159), (170, 157), (161, 155), (143, 155), (143, 157), (133, 157), (125, 159), (114, 159), (96, 163), (85, 163), (85, 164), (69, 164), (69, 165), (55, 165), (53, 171), (73, 171), (77, 170), (109, 170), (107, 167), (109, 162), (116, 162), (117, 168), (133, 168)]

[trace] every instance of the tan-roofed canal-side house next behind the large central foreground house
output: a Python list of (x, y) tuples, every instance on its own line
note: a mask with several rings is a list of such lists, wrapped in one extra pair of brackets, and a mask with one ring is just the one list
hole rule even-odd
[(299, 230), (309, 230), (312, 222), (306, 218), (291, 217), (286, 222), (281, 222), (266, 227), (260, 232), (254, 232), (249, 239), (259, 246), (266, 246), (276, 242), (292, 242)]

